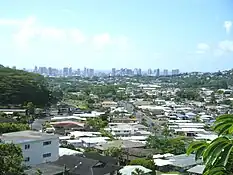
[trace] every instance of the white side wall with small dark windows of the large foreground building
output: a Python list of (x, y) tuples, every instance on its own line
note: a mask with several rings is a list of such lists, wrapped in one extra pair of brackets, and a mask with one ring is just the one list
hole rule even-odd
[[(44, 142), (51, 141), (49, 145), (43, 145)], [(53, 162), (59, 158), (59, 138), (53, 138), (49, 140), (40, 140), (34, 142), (27, 142), (19, 144), (26, 166), (37, 165), (46, 162)], [(28, 149), (25, 149), (25, 145), (30, 145)], [(51, 156), (43, 157), (43, 154), (51, 154)]]

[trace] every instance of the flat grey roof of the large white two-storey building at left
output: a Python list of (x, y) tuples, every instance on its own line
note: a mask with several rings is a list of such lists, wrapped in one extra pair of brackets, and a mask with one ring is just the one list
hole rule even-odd
[(53, 138), (58, 138), (58, 136), (54, 134), (47, 134), (47, 133), (31, 131), (31, 130), (5, 133), (2, 134), (2, 136), (0, 136), (0, 139), (4, 143), (15, 143), (15, 144), (33, 142), (39, 140), (48, 140)]

